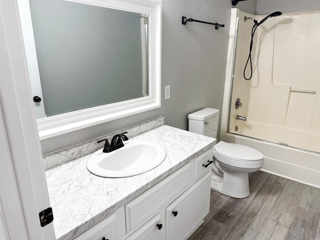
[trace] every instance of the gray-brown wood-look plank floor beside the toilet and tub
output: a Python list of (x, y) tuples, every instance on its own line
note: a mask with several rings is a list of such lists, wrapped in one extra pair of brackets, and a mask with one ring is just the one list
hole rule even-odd
[(257, 171), (250, 195), (211, 190), (210, 212), (188, 240), (320, 239), (320, 189)]

